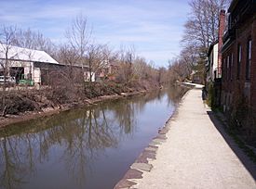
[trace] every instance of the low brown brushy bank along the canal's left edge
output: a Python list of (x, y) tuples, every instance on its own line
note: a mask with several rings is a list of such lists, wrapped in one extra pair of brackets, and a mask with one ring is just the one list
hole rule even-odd
[[(86, 82), (83, 85), (41, 86), (39, 88), (7, 88), (0, 93), (0, 128), (24, 120), (58, 114), (61, 111), (85, 107), (106, 100), (157, 91), (156, 84)], [(3, 100), (5, 99), (5, 101)]]

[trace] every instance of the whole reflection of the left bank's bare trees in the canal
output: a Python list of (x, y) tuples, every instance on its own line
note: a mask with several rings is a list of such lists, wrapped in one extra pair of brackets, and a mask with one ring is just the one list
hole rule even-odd
[(82, 186), (93, 159), (106, 147), (118, 145), (124, 135), (133, 134), (137, 116), (152, 100), (168, 94), (168, 103), (178, 102), (182, 88), (156, 91), (86, 109), (62, 112), (0, 131), (0, 185), (20, 188), (36, 173), (36, 164), (45, 163), (60, 145), (60, 159), (68, 173)]

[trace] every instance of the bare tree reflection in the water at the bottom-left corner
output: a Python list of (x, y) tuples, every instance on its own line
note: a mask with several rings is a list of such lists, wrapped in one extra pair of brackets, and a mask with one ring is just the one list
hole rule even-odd
[[(22, 145), (20, 142), (22, 141)], [(9, 138), (2, 137), (0, 142), (0, 186), (4, 188), (19, 188), (24, 183), (26, 173), (33, 173), (34, 137), (31, 134)]]

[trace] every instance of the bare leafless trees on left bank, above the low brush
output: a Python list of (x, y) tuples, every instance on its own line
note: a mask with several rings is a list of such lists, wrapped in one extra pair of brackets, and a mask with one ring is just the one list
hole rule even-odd
[(155, 65), (149, 64), (144, 57), (139, 57), (134, 46), (121, 46), (119, 50), (113, 50), (107, 44), (95, 43), (92, 35), (88, 20), (82, 14), (73, 19), (65, 31), (65, 43), (62, 44), (54, 44), (39, 31), (3, 25), (0, 30), (0, 45), (5, 45), (3, 49), (6, 58), (0, 61), (1, 69), (7, 76), (7, 67), (10, 64), (8, 59), (11, 59), (7, 55), (14, 45), (47, 52), (70, 68), (65, 73), (69, 80), (74, 80), (74, 66), (79, 66), (83, 70), (87, 68), (88, 82), (92, 82), (93, 74), (105, 69), (107, 64), (114, 63), (118, 68), (115, 72), (116, 82), (130, 84), (150, 80), (155, 85), (161, 84), (159, 70)]

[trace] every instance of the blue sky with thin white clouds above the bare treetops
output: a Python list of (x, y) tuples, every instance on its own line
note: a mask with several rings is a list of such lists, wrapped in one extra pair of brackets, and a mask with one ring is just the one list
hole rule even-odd
[(0, 23), (40, 31), (54, 43), (80, 13), (88, 18), (96, 43), (134, 45), (155, 66), (179, 55), (187, 0), (0, 0)]

